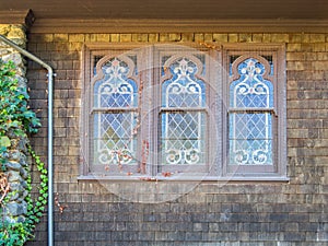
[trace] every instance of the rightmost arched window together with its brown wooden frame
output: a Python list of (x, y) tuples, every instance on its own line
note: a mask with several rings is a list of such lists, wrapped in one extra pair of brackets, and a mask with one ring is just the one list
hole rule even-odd
[[(282, 51), (226, 50), (227, 150), (225, 174), (285, 174), (285, 81)], [(284, 127), (282, 127), (284, 126)]]

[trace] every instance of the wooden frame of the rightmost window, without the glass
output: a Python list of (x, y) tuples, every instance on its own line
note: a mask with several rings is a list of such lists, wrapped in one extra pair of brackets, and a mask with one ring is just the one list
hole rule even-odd
[[(222, 48), (223, 55), (223, 68), (224, 74), (224, 93), (223, 101), (226, 102), (226, 114), (224, 114), (224, 127), (226, 132), (224, 136), (224, 142), (227, 144), (223, 145), (223, 153), (225, 154), (223, 176), (231, 177), (232, 179), (253, 179), (253, 180), (270, 180), (270, 179), (282, 179), (288, 180), (286, 177), (286, 79), (285, 79), (285, 46), (283, 44), (225, 44)], [(230, 75), (230, 56), (241, 56), (241, 62), (245, 61), (251, 57), (260, 56), (272, 56), (272, 61), (274, 62), (273, 68), (277, 70), (277, 74), (273, 74), (273, 108), (272, 110), (272, 137), (273, 147), (273, 169), (268, 168), (268, 166), (259, 165), (234, 165), (230, 168), (229, 163), (229, 113), (230, 113), (230, 84), (235, 81), (238, 75)], [(237, 58), (237, 60), (239, 59)], [(238, 65), (239, 65), (238, 63)], [(236, 65), (236, 67), (238, 66)], [(243, 108), (242, 108), (243, 109)], [(245, 110), (245, 109), (244, 109)], [(259, 112), (260, 108), (255, 108)], [(268, 112), (265, 109), (263, 112)], [(251, 168), (254, 171), (251, 171)]]

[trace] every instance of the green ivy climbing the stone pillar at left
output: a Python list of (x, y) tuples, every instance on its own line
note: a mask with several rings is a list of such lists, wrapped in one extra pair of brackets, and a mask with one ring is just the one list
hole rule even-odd
[(27, 153), (40, 174), (38, 195), (34, 198), (31, 194), (31, 165), (27, 165), (24, 167), (28, 174), (26, 180), (28, 195), (25, 197), (27, 214), (23, 222), (5, 220), (5, 204), (11, 196), (14, 196), (5, 175), (10, 153), (17, 147), (17, 140), (26, 140), (31, 133), (37, 132), (40, 126), (35, 113), (28, 108), (30, 97), (26, 87), (19, 85), (15, 70), (13, 62), (4, 62), (0, 59), (0, 212), (2, 214), (0, 245), (5, 246), (20, 246), (33, 238), (35, 225), (44, 214), (48, 198), (47, 169), (40, 157), (32, 150), (31, 144), (26, 142)]

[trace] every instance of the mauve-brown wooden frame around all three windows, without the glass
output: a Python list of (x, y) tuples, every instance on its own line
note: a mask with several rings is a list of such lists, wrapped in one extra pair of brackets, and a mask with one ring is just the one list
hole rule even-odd
[[(127, 43), (127, 44), (122, 44), (122, 43), (110, 43), (110, 44), (106, 44), (106, 43), (86, 43), (84, 45), (83, 48), (83, 54), (82, 54), (82, 68), (83, 68), (83, 74), (82, 74), (82, 81), (83, 81), (83, 85), (82, 85), (82, 110), (81, 110), (81, 118), (82, 118), (82, 124), (81, 124), (81, 132), (82, 132), (82, 153), (81, 153), (81, 168), (80, 168), (80, 176), (78, 177), (79, 179), (82, 180), (87, 180), (87, 179), (108, 179), (108, 180), (136, 180), (136, 179), (140, 179), (140, 177), (143, 177), (143, 174), (140, 175), (132, 175), (132, 176), (127, 176), (126, 173), (122, 173), (122, 175), (101, 175), (101, 176), (93, 176), (90, 174), (89, 172), (89, 165), (90, 163), (90, 141), (89, 141), (89, 132), (91, 130), (91, 126), (89, 126), (89, 124), (85, 124), (85, 120), (87, 119), (87, 115), (90, 113), (90, 95), (87, 93), (87, 83), (90, 82), (91, 78), (92, 78), (92, 57), (93, 56), (101, 56), (104, 55), (106, 56), (106, 54), (108, 54), (110, 50), (131, 50), (134, 48), (142, 48), (142, 47), (150, 47), (154, 44), (142, 44), (142, 43)], [(156, 45), (156, 44), (155, 44)], [(172, 45), (178, 45), (178, 44), (172, 44)], [(207, 173), (207, 175), (203, 176), (179, 176), (179, 177), (164, 177), (161, 176), (161, 174), (159, 175), (159, 173), (156, 172), (156, 165), (160, 165), (160, 163), (157, 162), (159, 156), (156, 156), (156, 154), (153, 154), (152, 156), (150, 156), (149, 162), (151, 163), (150, 165), (147, 165), (147, 169), (145, 176), (150, 176), (150, 177), (155, 177), (157, 180), (160, 179), (172, 179), (172, 180), (289, 180), (289, 178), (286, 177), (286, 97), (285, 97), (285, 93), (286, 93), (286, 83), (285, 83), (285, 48), (283, 44), (221, 44), (218, 45), (215, 44), (215, 49), (211, 49), (211, 48), (203, 48), (200, 47), (199, 45), (191, 43), (191, 44), (181, 44), (185, 47), (196, 47), (197, 49), (199, 49), (200, 51), (207, 51), (207, 55), (210, 56), (211, 59), (215, 60), (216, 62), (219, 62), (220, 68), (215, 68), (213, 69), (214, 74), (210, 73), (209, 75), (209, 83), (206, 83), (207, 86), (207, 96), (209, 98), (209, 108), (210, 110), (214, 112), (214, 115), (212, 116), (216, 121), (214, 124), (210, 124), (210, 120), (208, 120), (208, 127), (207, 127), (207, 144), (209, 144), (209, 150), (210, 151), (214, 151), (218, 154), (213, 157), (213, 160), (211, 160), (211, 162), (213, 163), (212, 165), (208, 163), (209, 165), (209, 172)], [(210, 47), (210, 46), (209, 46)], [(164, 48), (165, 49), (165, 48)], [(277, 152), (277, 160), (276, 160), (276, 164), (277, 164), (277, 169), (273, 173), (248, 173), (248, 174), (243, 174), (243, 173), (231, 173), (227, 169), (227, 155), (224, 153), (227, 153), (227, 147), (226, 144), (224, 144), (224, 142), (227, 142), (227, 133), (229, 131), (225, 130), (227, 129), (227, 112), (226, 112), (226, 107), (225, 105), (229, 102), (229, 97), (227, 97), (227, 92), (229, 92), (229, 73), (224, 72), (224, 71), (229, 71), (226, 70), (229, 67), (229, 60), (227, 60), (227, 56), (229, 54), (231, 54), (232, 51), (266, 51), (266, 52), (272, 52), (274, 51), (277, 54), (277, 60), (280, 61), (277, 65), (277, 69), (279, 72), (279, 83), (277, 83), (277, 91), (274, 90), (274, 103), (277, 103), (277, 115), (278, 115), (278, 122), (277, 122), (277, 150), (273, 150), (273, 152)], [(141, 65), (142, 68), (140, 68), (140, 70), (142, 70), (143, 68), (152, 68), (151, 66), (154, 62), (154, 59), (156, 58), (154, 56), (154, 51), (152, 48), (145, 49), (145, 54), (144, 57), (148, 57), (147, 60), (144, 60), (144, 63)], [(215, 67), (215, 66), (213, 66)], [(148, 71), (149, 73), (152, 73), (153, 71)], [(140, 81), (145, 81), (147, 78), (150, 75), (148, 72), (144, 72), (140, 75)], [(154, 71), (154, 74), (159, 74), (160, 71)], [(160, 79), (159, 79), (160, 80)], [(140, 84), (140, 81), (138, 81), (138, 83)], [(219, 83), (212, 83), (211, 81), (219, 81)], [(151, 82), (151, 83), (155, 83), (155, 82)], [(213, 90), (209, 90), (209, 86), (213, 86), (214, 87), (214, 93)], [(156, 92), (157, 87), (154, 86), (154, 90), (151, 92), (153, 94), (156, 94), (159, 92)], [(219, 97), (218, 98), (218, 94)], [(147, 96), (142, 93), (142, 97), (141, 101), (143, 101)], [(83, 99), (85, 98), (85, 101)], [(277, 99), (276, 99), (277, 98)], [(141, 102), (142, 103), (142, 102)], [(159, 115), (160, 113), (160, 106), (161, 106), (161, 102), (156, 102), (155, 103), (156, 106), (154, 108), (156, 108), (154, 112), (152, 112), (149, 117), (147, 119), (142, 119), (143, 121), (141, 121), (141, 128), (140, 128), (140, 134), (141, 136), (147, 136), (150, 138), (150, 144), (153, 144), (155, 147), (154, 153), (159, 153), (156, 148), (159, 142), (159, 133), (154, 133), (154, 132), (159, 132), (157, 129), (157, 121), (159, 121), (159, 117), (156, 118), (154, 116)], [(276, 105), (274, 105), (276, 106)], [(144, 110), (147, 110), (147, 108), (142, 108), (140, 114), (144, 114)], [(222, 120), (220, 120), (222, 119)], [(152, 129), (150, 129), (150, 126), (154, 126)], [(213, 126), (214, 125), (214, 126)], [(218, 131), (218, 133), (215, 134), (215, 137), (211, 136), (209, 132), (210, 127), (214, 127)], [(220, 141), (215, 141), (213, 143), (213, 139), (220, 139)], [(141, 138), (140, 138), (141, 139)], [(138, 140), (139, 141), (139, 148), (141, 148), (142, 145), (142, 140)], [(141, 157), (140, 157), (141, 159)]]

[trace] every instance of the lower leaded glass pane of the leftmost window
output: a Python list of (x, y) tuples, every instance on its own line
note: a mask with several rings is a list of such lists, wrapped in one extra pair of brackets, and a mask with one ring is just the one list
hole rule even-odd
[(94, 115), (94, 160), (99, 164), (132, 164), (136, 159), (136, 113)]

